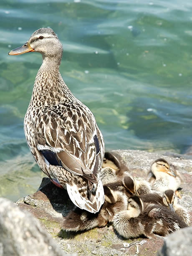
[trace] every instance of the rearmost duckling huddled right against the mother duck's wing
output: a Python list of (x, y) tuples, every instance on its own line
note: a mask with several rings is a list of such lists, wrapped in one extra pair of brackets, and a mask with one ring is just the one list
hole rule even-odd
[(106, 183), (114, 182), (122, 178), (124, 172), (130, 175), (126, 162), (122, 157), (115, 152), (105, 152), (104, 162), (100, 172), (102, 183), (105, 185)]

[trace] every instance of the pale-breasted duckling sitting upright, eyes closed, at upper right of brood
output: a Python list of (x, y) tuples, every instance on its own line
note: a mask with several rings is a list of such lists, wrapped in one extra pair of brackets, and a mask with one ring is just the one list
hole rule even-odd
[(181, 198), (177, 188), (179, 188), (182, 178), (177, 171), (172, 172), (169, 168), (169, 163), (165, 159), (159, 158), (155, 160), (149, 171), (149, 174), (152, 175), (149, 178), (149, 182), (153, 190), (164, 192), (171, 189), (176, 191), (177, 196)]

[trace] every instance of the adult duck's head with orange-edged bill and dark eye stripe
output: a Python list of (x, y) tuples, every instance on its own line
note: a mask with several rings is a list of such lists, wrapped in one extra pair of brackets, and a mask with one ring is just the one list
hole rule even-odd
[(56, 33), (51, 28), (40, 28), (36, 30), (23, 45), (10, 51), (9, 55), (19, 55), (28, 52), (39, 52), (43, 59), (48, 56), (59, 56), (61, 61), (63, 46), (59, 41)]

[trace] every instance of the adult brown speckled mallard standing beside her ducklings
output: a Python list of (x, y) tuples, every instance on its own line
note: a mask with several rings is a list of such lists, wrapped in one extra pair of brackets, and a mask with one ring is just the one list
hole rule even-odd
[(79, 208), (96, 213), (104, 203), (99, 177), (103, 136), (91, 111), (73, 96), (61, 77), (63, 47), (51, 28), (36, 30), (9, 55), (32, 51), (42, 54), (43, 63), (24, 119), (27, 144), (53, 183), (66, 188)]

